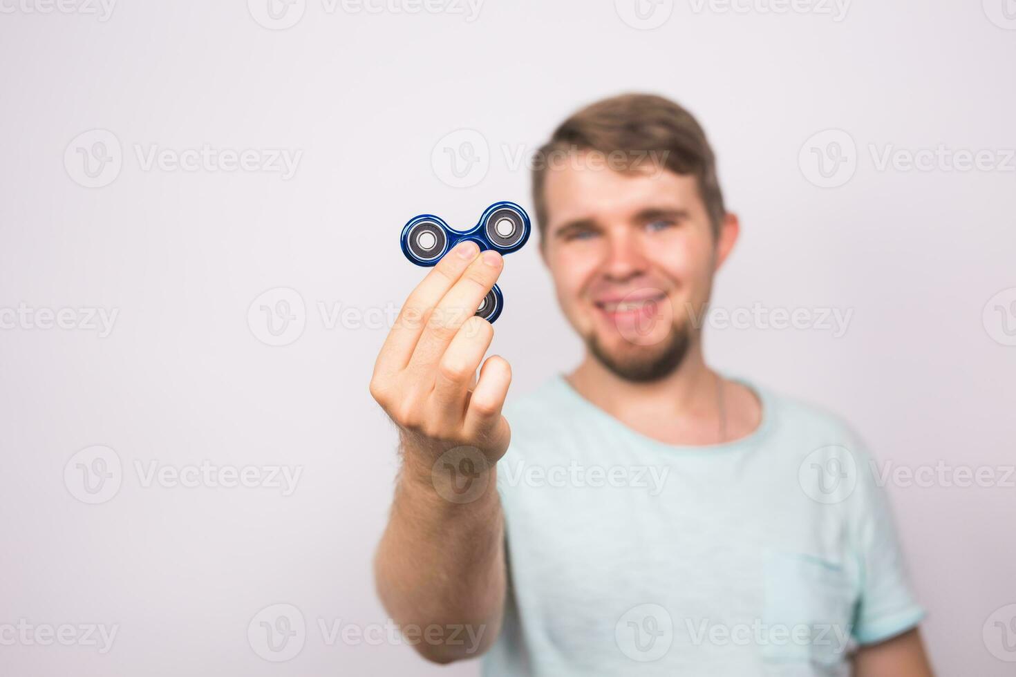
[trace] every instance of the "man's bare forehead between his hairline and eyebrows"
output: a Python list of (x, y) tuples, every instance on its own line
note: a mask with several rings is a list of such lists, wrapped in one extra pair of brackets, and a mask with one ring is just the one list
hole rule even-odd
[(581, 161), (549, 168), (544, 184), (549, 225), (576, 219), (624, 218), (648, 207), (704, 211), (691, 175), (663, 168), (615, 172)]

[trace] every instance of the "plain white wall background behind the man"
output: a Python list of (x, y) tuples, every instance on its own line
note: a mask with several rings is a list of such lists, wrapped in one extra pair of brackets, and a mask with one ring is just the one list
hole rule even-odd
[[(1016, 20), (1003, 0), (855, 2), (845, 16), (817, 1), (774, 13), (764, 0), (738, 11), (662, 0), (643, 7), (656, 12), (648, 23), (624, 0), (487, 0), (475, 16), (307, 0), (287, 29), (270, 27), (266, 2), (122, 0), (104, 21), (90, 6), (0, 0), (0, 309), (118, 312), (104, 338), (0, 330), (0, 624), (119, 625), (105, 655), (0, 646), (0, 672), (477, 674), (404, 646), (329, 646), (318, 630), (319, 619), (385, 621), (370, 559), (396, 467), (367, 392), (385, 331), (329, 328), (320, 304), (397, 307), (423, 274), (398, 249), (409, 217), (461, 226), (496, 200), (531, 206), (517, 153), (622, 91), (683, 103), (715, 145), (744, 226), (717, 307), (852, 309), (840, 337), (709, 329), (714, 365), (841, 413), (897, 466), (1014, 463), (1016, 292), (989, 301), (1016, 287), (1016, 160), (876, 161), (944, 144), (998, 163), (1016, 147)], [(115, 136), (122, 166), (85, 188), (78, 148), (96, 137), (74, 140), (93, 129)], [(830, 129), (853, 142), (853, 175), (820, 188), (799, 156)], [(442, 141), (457, 130), (487, 145), (473, 144), (482, 163), (464, 180), (444, 146), (477, 135)], [(137, 156), (204, 144), (302, 156), (289, 180), (145, 170)], [(494, 349), (518, 397), (569, 368), (579, 345), (534, 241), (508, 258), (501, 286)], [(303, 299), (291, 309), (305, 329), (272, 347), (260, 306), (253, 322), (248, 310), (278, 287)], [(94, 445), (116, 452), (122, 478), (87, 504), (64, 470)], [(204, 460), (303, 475), (283, 496), (146, 487), (135, 470)], [(1016, 488), (888, 491), (939, 672), (1011, 674), (1002, 659), (1016, 652), (993, 654), (988, 621), (1016, 602)], [(307, 623), (303, 650), (280, 664), (247, 638), (276, 603)]]

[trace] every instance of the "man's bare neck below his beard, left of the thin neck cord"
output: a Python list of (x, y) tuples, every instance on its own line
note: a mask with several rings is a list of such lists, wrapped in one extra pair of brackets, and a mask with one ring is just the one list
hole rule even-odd
[(711, 419), (716, 412), (718, 377), (706, 365), (697, 340), (689, 345), (678, 368), (658, 381), (626, 381), (588, 351), (567, 378), (583, 397), (621, 420), (655, 416)]

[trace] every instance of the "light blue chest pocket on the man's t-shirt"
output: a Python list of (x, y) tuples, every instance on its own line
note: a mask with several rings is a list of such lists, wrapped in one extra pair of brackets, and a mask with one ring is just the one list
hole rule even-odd
[[(815, 674), (839, 674), (852, 650), (858, 591), (842, 564), (809, 554), (770, 552), (759, 632), (767, 661), (810, 663)], [(809, 673), (810, 674), (810, 673)]]

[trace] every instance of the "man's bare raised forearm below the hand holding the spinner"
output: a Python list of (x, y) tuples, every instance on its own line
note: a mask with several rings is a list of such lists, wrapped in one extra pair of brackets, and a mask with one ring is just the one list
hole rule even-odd
[(487, 480), (484, 493), (456, 503), (442, 497), (429, 468), (414, 468), (407, 461), (375, 558), (378, 594), (394, 621), (443, 628), (441, 640), (416, 645), (424, 657), (440, 663), (479, 656), (501, 626), (504, 519), (496, 469), (482, 472), (486, 477), (473, 481)]

